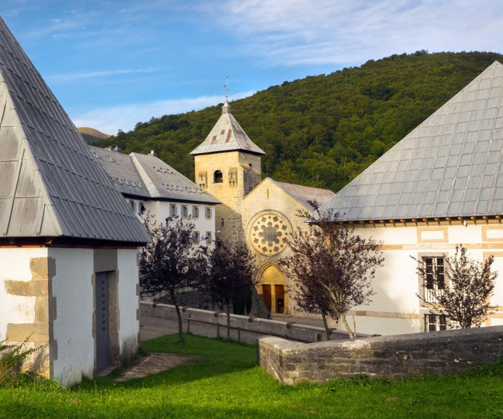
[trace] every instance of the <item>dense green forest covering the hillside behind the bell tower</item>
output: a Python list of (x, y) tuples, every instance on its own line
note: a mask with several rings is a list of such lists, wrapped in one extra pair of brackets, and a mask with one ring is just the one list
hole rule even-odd
[[(285, 81), (232, 102), (232, 114), (267, 155), (263, 177), (337, 192), (494, 60), (490, 52), (392, 55), (360, 67)], [(194, 179), (189, 152), (217, 121), (219, 104), (138, 122), (95, 145), (157, 155)]]

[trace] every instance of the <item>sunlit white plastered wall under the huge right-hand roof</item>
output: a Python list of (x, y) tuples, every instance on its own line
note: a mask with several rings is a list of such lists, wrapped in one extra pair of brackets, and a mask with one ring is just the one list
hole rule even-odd
[[(485, 224), (485, 223), (484, 223)], [(428, 230), (418, 233), (415, 225), (398, 226), (368, 226), (359, 227), (356, 233), (362, 237), (373, 237), (384, 244), (384, 266), (376, 272), (373, 288), (376, 295), (372, 302), (365, 306), (355, 307), (348, 316), (350, 326), (353, 318), (356, 329), (361, 333), (396, 334), (424, 331), (424, 314), (428, 309), (421, 308), (422, 303), (416, 296), (420, 292), (420, 285), (416, 273), (416, 262), (410, 257), (418, 258), (426, 255), (445, 254), (453, 256), (456, 244), (463, 243), (468, 248), (471, 258), (480, 262), (489, 254), (496, 255), (493, 270), (501, 272), (497, 279), (496, 289), (491, 303), (503, 306), (503, 253), (501, 243), (489, 242), (484, 239), (482, 228), (484, 225), (443, 225), (447, 230), (439, 240), (439, 234), (434, 232), (438, 225), (432, 223)], [(430, 241), (429, 241), (430, 240)], [(499, 255), (499, 256), (497, 256)], [(359, 312), (359, 313), (356, 313)], [(363, 314), (365, 315), (358, 315)], [(490, 324), (503, 323), (501, 313), (491, 318)], [(503, 317), (503, 316), (501, 316)], [(489, 323), (488, 323), (489, 324)], [(343, 325), (340, 325), (343, 328)]]

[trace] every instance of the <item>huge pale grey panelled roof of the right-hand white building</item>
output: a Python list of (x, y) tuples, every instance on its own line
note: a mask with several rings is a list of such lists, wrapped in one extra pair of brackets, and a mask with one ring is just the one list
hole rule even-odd
[(503, 66), (495, 61), (336, 194), (342, 220), (503, 213)]

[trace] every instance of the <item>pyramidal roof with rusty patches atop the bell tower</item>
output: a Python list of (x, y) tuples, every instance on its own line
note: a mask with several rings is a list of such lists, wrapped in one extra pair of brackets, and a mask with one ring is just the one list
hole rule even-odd
[(266, 154), (246, 135), (230, 113), (230, 105), (226, 100), (222, 106), (222, 115), (217, 123), (206, 139), (191, 151), (191, 154), (208, 154), (236, 150), (255, 154)]

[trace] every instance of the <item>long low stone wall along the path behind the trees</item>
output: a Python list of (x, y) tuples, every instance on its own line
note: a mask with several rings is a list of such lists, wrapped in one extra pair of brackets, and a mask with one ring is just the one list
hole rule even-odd
[[(140, 302), (140, 312), (143, 315), (177, 319), (177, 312), (174, 305), (154, 304), (147, 301)], [(184, 308), (182, 312), (183, 320), (195, 321), (210, 325), (220, 325), (227, 327), (227, 316), (225, 313), (218, 313), (199, 308)], [(242, 331), (257, 333), (258, 335), (268, 334), (279, 336), (300, 342), (319, 342), (325, 340), (325, 329), (322, 327), (298, 324), (294, 321), (286, 322), (279, 320), (268, 320), (259, 317), (240, 316), (238, 314), (230, 315), (230, 326), (234, 329), (239, 327)], [(222, 334), (224, 331), (222, 330)], [(367, 337), (367, 334), (358, 334), (359, 337)], [(348, 339), (348, 333), (345, 331), (332, 329), (330, 340), (338, 341)], [(291, 341), (288, 341), (291, 343)]]

